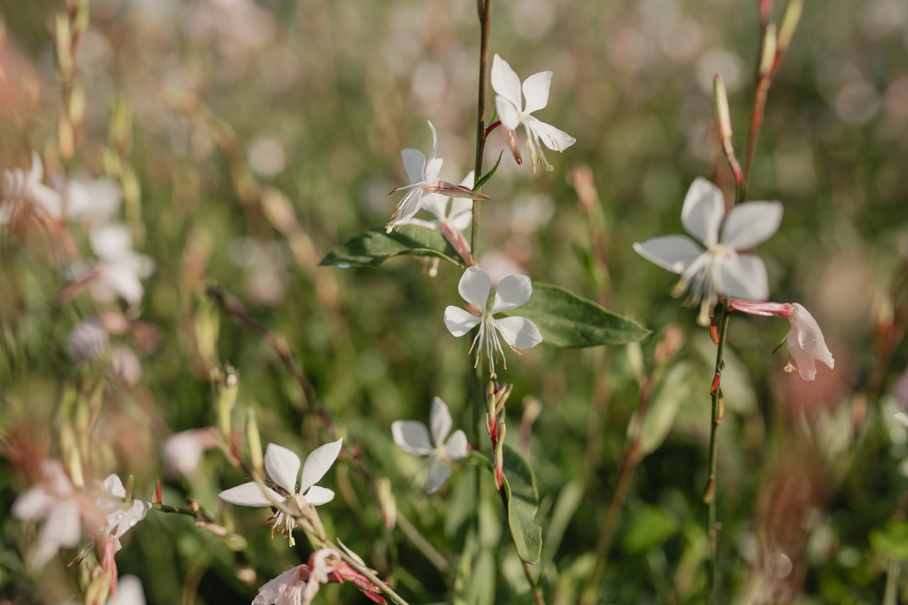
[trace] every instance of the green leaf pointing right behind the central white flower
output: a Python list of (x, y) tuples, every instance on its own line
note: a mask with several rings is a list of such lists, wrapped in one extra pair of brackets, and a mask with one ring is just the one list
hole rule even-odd
[(547, 283), (533, 283), (528, 302), (501, 315), (528, 318), (542, 333), (542, 342), (563, 348), (627, 344), (649, 333), (637, 322)]

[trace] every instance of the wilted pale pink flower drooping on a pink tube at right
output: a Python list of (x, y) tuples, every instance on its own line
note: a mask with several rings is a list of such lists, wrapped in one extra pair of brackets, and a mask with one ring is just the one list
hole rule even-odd
[[(795, 361), (798, 373), (805, 381), (816, 378), (816, 362), (823, 362), (832, 370), (835, 365), (819, 324), (804, 305), (799, 302), (753, 302), (731, 299), (731, 308), (752, 315), (782, 317), (791, 323), (791, 329), (782, 342), (788, 347), (788, 356)], [(779, 343), (779, 346), (782, 345)], [(786, 372), (791, 372), (789, 363)]]

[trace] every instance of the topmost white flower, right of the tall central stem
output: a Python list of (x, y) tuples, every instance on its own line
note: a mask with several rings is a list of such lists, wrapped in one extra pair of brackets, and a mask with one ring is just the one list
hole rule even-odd
[(570, 134), (558, 130), (551, 124), (540, 122), (538, 118), (530, 115), (548, 104), (548, 90), (552, 85), (552, 73), (540, 72), (530, 75), (524, 80), (523, 97), (527, 99), (526, 105), (523, 105), (520, 95), (518, 74), (498, 54), (492, 57), (490, 79), (492, 89), (498, 93), (498, 96), (495, 97), (495, 108), (498, 111), (498, 119), (501, 120), (502, 127), (513, 132), (517, 130), (519, 124), (523, 124), (527, 131), (527, 144), (533, 160), (533, 172), (536, 172), (537, 164), (544, 165), (546, 170), (552, 170), (552, 166), (546, 160), (546, 155), (542, 152), (542, 147), (539, 146), (539, 141), (542, 141), (542, 144), (552, 151), (558, 152), (564, 151), (577, 141)]

